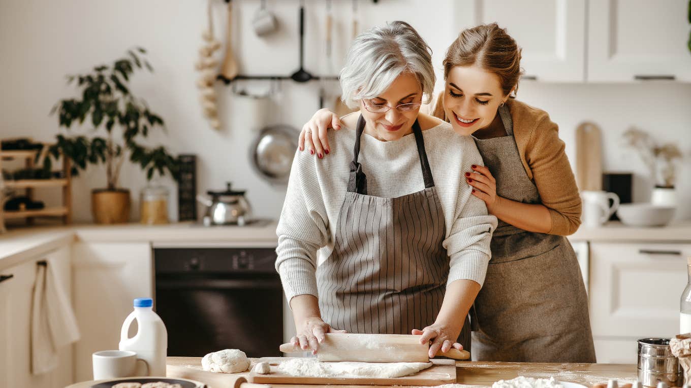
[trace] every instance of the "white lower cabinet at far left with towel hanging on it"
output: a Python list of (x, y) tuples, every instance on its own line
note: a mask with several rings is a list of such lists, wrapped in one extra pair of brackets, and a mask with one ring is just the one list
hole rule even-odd
[(13, 277), (0, 283), (0, 387), (61, 388), (74, 382), (71, 346), (58, 349), (56, 369), (31, 374), (31, 306), (39, 260), (49, 260), (57, 281), (70, 293), (69, 246), (1, 271)]

